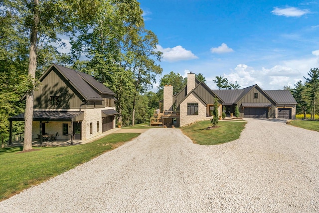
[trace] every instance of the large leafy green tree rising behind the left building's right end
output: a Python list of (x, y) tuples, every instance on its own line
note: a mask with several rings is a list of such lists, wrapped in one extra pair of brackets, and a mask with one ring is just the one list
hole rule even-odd
[(136, 97), (150, 88), (161, 73), (156, 64), (157, 36), (144, 28), (143, 11), (136, 0), (101, 1), (94, 18), (83, 25), (71, 39), (72, 56), (85, 53), (89, 62), (86, 72), (110, 87), (117, 95), (118, 121), (135, 122)]

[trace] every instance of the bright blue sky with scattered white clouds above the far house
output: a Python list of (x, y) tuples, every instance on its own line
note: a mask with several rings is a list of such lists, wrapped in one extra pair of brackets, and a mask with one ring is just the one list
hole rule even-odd
[(162, 75), (216, 75), (241, 88), (294, 87), (319, 67), (319, 1), (139, 0), (145, 26), (159, 38)]

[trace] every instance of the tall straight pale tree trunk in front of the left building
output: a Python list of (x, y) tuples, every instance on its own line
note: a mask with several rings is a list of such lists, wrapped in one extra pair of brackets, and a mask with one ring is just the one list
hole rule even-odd
[[(36, 70), (36, 41), (39, 24), (39, 0), (33, 1), (33, 24), (30, 36), (30, 54), (28, 75), (31, 78), (32, 85), (35, 80)], [(23, 151), (32, 149), (32, 121), (33, 121), (33, 88), (26, 95), (25, 112), (24, 112), (24, 143)]]

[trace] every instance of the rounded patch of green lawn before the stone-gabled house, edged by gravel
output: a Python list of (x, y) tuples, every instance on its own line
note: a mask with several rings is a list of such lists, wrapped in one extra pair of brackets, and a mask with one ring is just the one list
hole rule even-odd
[(246, 121), (220, 121), (217, 128), (207, 129), (210, 121), (200, 121), (180, 129), (196, 144), (217, 145), (238, 139), (245, 124)]

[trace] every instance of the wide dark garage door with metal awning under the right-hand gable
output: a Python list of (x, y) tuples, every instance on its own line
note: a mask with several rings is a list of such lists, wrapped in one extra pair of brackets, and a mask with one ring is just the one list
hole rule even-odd
[(242, 103), (244, 118), (268, 118), (269, 103)]

